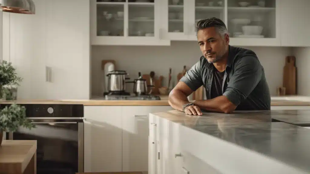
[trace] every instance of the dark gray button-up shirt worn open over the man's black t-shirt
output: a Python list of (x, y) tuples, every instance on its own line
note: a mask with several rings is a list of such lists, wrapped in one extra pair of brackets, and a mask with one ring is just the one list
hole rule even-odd
[[(213, 63), (208, 63), (201, 56), (180, 81), (193, 91), (203, 85), (206, 97), (210, 99), (213, 68)], [(229, 46), (222, 86), (223, 95), (237, 106), (236, 110), (270, 110), (271, 99), (264, 68), (252, 50)]]

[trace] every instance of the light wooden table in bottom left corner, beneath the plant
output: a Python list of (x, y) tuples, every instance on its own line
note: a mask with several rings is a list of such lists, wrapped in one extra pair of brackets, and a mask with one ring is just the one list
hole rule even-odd
[[(36, 150), (36, 140), (3, 140), (0, 146), (1, 173), (24, 173), (32, 159), (36, 164)], [(33, 168), (36, 168), (35, 164)]]

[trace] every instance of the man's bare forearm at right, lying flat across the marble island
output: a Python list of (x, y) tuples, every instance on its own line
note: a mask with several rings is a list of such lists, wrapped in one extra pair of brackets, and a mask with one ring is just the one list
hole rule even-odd
[(213, 112), (230, 113), (236, 108), (224, 95), (209, 100), (196, 100), (193, 103), (203, 110)]

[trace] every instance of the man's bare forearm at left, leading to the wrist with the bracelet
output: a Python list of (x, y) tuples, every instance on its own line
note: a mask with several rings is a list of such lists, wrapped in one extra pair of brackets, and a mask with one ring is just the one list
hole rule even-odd
[(171, 107), (179, 111), (183, 111), (183, 105), (189, 103), (187, 96), (179, 90), (172, 90), (170, 92), (168, 102)]

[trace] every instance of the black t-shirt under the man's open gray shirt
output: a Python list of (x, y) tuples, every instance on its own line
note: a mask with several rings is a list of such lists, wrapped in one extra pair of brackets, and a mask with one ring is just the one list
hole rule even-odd
[[(219, 72), (215, 67), (213, 68), (213, 80), (211, 85), (211, 99), (223, 95), (222, 84), (225, 71)], [(225, 86), (224, 86), (225, 87)]]

